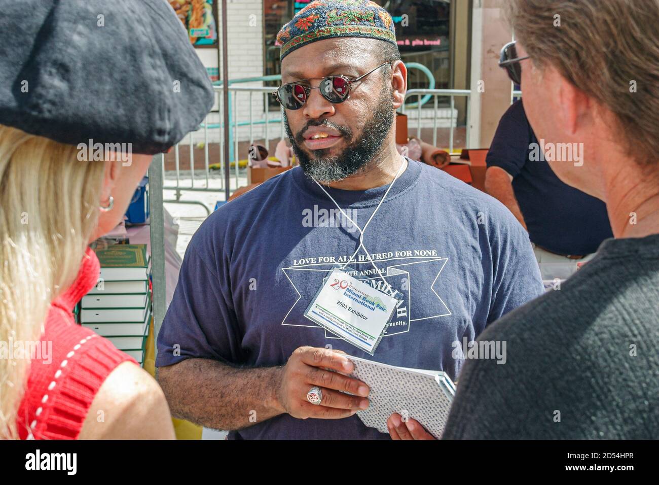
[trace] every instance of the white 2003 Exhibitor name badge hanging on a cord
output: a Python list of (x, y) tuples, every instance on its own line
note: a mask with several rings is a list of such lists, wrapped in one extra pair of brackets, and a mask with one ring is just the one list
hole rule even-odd
[(397, 302), (393, 296), (335, 268), (304, 316), (373, 355)]

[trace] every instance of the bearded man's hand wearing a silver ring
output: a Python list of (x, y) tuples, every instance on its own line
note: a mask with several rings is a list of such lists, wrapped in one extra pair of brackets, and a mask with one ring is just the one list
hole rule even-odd
[[(341, 419), (368, 408), (368, 399), (365, 399), (368, 386), (340, 373), (352, 371), (353, 363), (339, 351), (317, 347), (295, 349), (281, 369), (277, 391), (281, 411), (301, 419)], [(306, 394), (314, 386), (322, 391), (320, 404), (311, 404), (306, 399)]]

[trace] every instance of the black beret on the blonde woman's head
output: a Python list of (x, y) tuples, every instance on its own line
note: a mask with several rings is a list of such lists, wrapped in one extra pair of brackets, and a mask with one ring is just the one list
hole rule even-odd
[(0, 124), (61, 143), (166, 151), (212, 83), (165, 0), (0, 0)]

